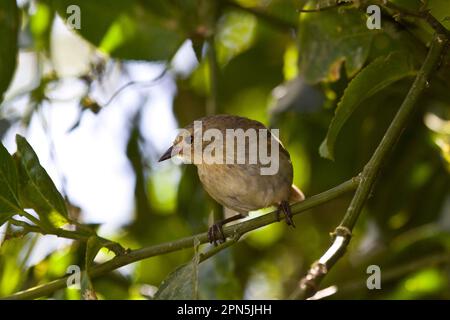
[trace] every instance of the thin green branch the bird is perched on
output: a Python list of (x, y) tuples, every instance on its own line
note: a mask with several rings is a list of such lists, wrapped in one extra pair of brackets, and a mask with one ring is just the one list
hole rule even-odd
[[(347, 192), (353, 191), (357, 188), (359, 185), (360, 178), (352, 178), (349, 181), (346, 181), (332, 189), (329, 189), (325, 192), (322, 192), (320, 194), (314, 195), (310, 198), (307, 198), (305, 201), (295, 203), (291, 206), (292, 214), (296, 215), (301, 212), (304, 212), (308, 209), (317, 207), (321, 204), (324, 204), (326, 202), (329, 202)], [(239, 237), (244, 235), (247, 232), (250, 232), (252, 230), (259, 229), (261, 227), (267, 226), (269, 224), (272, 224), (274, 222), (278, 222), (278, 214), (277, 211), (273, 211), (271, 213), (265, 214), (263, 216), (247, 220), (241, 223), (237, 223), (231, 226), (225, 226), (223, 228), (224, 234), (226, 237), (232, 237), (231, 241), (228, 241), (226, 243), (226, 246), (229, 246), (237, 241)], [(113, 259), (96, 265), (91, 268), (89, 275), (91, 278), (99, 277), (101, 275), (104, 275), (108, 272), (111, 272), (115, 269), (118, 269), (120, 267), (126, 266), (128, 264), (144, 260), (153, 256), (162, 255), (169, 252), (174, 252), (186, 248), (192, 248), (194, 246), (194, 242), (200, 241), (200, 243), (207, 243), (208, 242), (208, 235), (206, 232), (197, 234), (190, 237), (181, 238), (175, 241), (166, 242), (162, 244), (157, 244), (154, 246), (141, 248), (137, 250), (131, 250), (126, 254), (119, 255), (114, 257)], [(231, 242), (231, 243), (230, 243)], [(225, 247), (226, 247), (225, 246)], [(222, 247), (220, 247), (223, 249)], [(212, 249), (214, 250), (214, 249)], [(207, 255), (204, 258), (208, 258), (208, 255), (212, 255), (213, 253), (205, 253)], [(42, 296), (46, 296), (51, 294), (52, 292), (62, 289), (66, 286), (67, 283), (67, 277), (54, 280), (52, 282), (36, 286), (31, 289), (27, 289), (24, 291), (17, 292), (11, 296), (4, 297), (2, 299), (36, 299)]]

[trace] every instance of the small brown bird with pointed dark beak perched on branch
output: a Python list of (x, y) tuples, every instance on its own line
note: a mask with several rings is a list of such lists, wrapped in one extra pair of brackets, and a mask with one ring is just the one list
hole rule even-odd
[(201, 118), (181, 130), (159, 161), (174, 156), (196, 165), (208, 194), (239, 213), (210, 227), (211, 243), (225, 241), (224, 224), (269, 206), (295, 227), (289, 203), (305, 197), (292, 184), (289, 153), (262, 123), (232, 115)]

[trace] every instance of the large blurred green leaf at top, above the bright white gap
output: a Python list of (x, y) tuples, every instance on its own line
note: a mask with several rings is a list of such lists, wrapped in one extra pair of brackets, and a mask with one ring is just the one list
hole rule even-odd
[(52, 4), (65, 19), (71, 15), (66, 12), (68, 6), (79, 6), (81, 28), (75, 31), (115, 58), (168, 60), (186, 39), (176, 8), (171, 7), (176, 4), (136, 0), (58, 0)]

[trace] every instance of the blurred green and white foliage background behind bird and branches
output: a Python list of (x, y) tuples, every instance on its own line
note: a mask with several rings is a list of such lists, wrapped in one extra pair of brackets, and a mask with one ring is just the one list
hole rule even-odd
[[(294, 183), (307, 197), (325, 191), (360, 172), (413, 78), (366, 99), (344, 126), (330, 161), (318, 150), (349, 81), (394, 49), (412, 52), (420, 65), (431, 31), (389, 15), (382, 30), (371, 31), (358, 9), (299, 19), (305, 3), (18, 0), (15, 71), (13, 62), (0, 62), (6, 66), (0, 71), (14, 71), (1, 104), (0, 138), (14, 152), (16, 133), (26, 136), (72, 217), (130, 248), (203, 232), (212, 221), (214, 203), (196, 169), (157, 162), (177, 128), (206, 114), (236, 114), (279, 128)], [(65, 21), (73, 4), (81, 8), (79, 30)], [(446, 1), (432, 4), (439, 18), (450, 16)], [(343, 30), (356, 44), (338, 52), (333, 39), (320, 38), (321, 24), (351, 26)], [(329, 47), (320, 51), (329, 56), (308, 51), (320, 46)], [(313, 58), (316, 65), (307, 60)], [(436, 76), (385, 164), (348, 253), (323, 283), (336, 286), (328, 298), (450, 298), (449, 74)], [(202, 263), (200, 298), (286, 298), (330, 244), (329, 232), (350, 199), (302, 213), (296, 229), (275, 223), (253, 231)], [(0, 228), (0, 296), (81, 264), (83, 244), (54, 236), (9, 238), (9, 228)], [(149, 298), (192, 255), (184, 250), (146, 259), (93, 285), (99, 298)], [(96, 262), (111, 256), (102, 251)], [(366, 288), (371, 264), (381, 268), (381, 290)], [(77, 299), (79, 293), (65, 289), (53, 297)]]

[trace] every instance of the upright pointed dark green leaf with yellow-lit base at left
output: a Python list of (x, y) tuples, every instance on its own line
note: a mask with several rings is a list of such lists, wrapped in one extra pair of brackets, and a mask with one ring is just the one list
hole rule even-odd
[(16, 136), (19, 195), (24, 207), (34, 209), (47, 227), (68, 223), (65, 201), (27, 140)]

